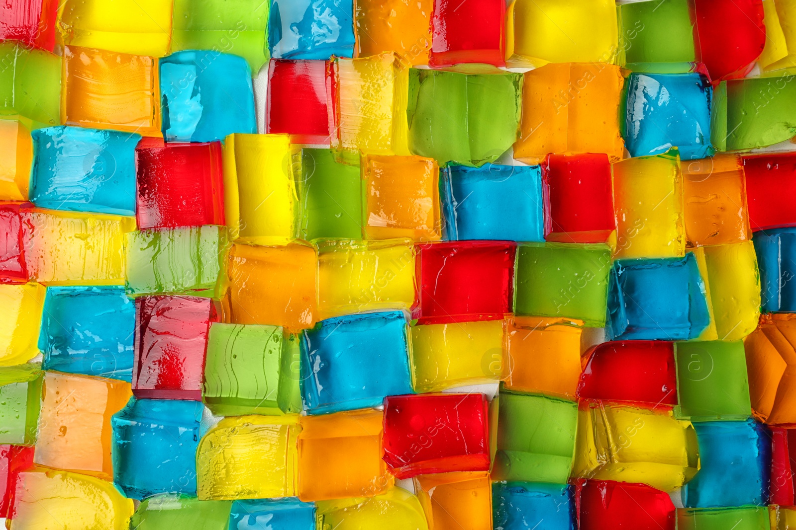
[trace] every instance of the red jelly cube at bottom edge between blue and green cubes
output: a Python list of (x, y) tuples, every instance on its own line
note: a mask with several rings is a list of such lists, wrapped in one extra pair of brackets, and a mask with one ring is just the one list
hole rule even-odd
[(579, 481), (575, 505), (579, 530), (674, 530), (669, 493), (646, 484)]

